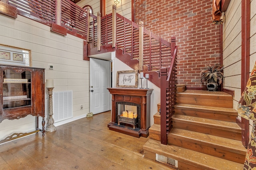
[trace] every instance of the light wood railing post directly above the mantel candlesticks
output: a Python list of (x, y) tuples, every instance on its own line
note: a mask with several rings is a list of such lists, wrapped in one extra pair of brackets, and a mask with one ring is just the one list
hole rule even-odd
[(143, 34), (144, 26), (143, 21), (139, 22), (139, 69), (143, 70)]

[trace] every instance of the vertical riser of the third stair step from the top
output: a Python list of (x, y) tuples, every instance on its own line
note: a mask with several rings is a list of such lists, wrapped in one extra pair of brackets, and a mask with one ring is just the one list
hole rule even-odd
[(238, 133), (238, 132), (222, 130), (222, 129), (214, 129), (214, 127), (204, 127), (204, 126), (201, 126), (200, 124), (192, 125), (188, 123), (176, 122), (174, 119), (173, 119), (173, 127), (179, 128), (179, 129), (185, 129), (188, 131), (204, 133), (208, 135), (214, 135), (218, 137), (225, 137), (228, 139), (234, 139), (238, 141), (241, 141), (242, 139), (241, 133)]

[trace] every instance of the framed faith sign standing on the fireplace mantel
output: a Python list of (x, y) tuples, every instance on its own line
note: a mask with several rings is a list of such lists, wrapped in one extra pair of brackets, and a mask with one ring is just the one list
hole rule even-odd
[(138, 88), (138, 70), (118, 71), (116, 87)]

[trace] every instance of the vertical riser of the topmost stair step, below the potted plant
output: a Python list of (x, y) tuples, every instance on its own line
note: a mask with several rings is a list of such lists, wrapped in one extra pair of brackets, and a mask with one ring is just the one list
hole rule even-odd
[[(230, 100), (231, 99), (231, 100)], [(177, 94), (177, 103), (179, 104), (193, 104), (199, 106), (212, 106), (212, 107), (225, 107), (233, 108), (232, 96), (219, 97), (219, 96), (200, 96), (200, 95), (185, 95)]]

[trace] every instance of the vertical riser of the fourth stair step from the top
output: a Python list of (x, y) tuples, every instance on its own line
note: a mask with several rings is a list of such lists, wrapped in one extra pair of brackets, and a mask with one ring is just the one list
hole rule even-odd
[(176, 139), (175, 136), (172, 136), (172, 135), (168, 136), (168, 144), (176, 145), (178, 147), (194, 150), (196, 152), (201, 152), (204, 154), (216, 156), (218, 158), (231, 160), (234, 162), (238, 162), (240, 164), (244, 163), (244, 158), (245, 158), (244, 154), (237, 154), (235, 153), (236, 152), (235, 150), (232, 152), (232, 150), (227, 151), (227, 150), (216, 149), (209, 146), (197, 144), (195, 143), (195, 141), (185, 141), (184, 139)]

